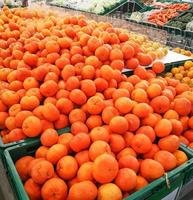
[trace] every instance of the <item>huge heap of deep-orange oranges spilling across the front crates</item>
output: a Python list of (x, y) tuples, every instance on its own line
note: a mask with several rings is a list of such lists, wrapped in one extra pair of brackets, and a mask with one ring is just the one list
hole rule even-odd
[(21, 8), (0, 19), (3, 142), (42, 144), (15, 163), (30, 199), (119, 200), (187, 161), (193, 93), (156, 77), (162, 62), (146, 70), (156, 54), (126, 30)]

